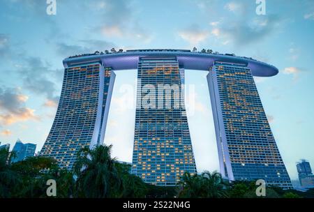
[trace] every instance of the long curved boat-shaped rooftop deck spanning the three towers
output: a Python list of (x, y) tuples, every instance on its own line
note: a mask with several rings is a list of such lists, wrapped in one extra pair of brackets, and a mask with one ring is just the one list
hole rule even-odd
[(114, 54), (97, 54), (91, 56), (77, 56), (63, 60), (65, 68), (75, 66), (81, 63), (90, 63), (91, 61), (101, 62), (105, 67), (111, 67), (113, 70), (131, 70), (137, 69), (137, 63), (141, 57), (176, 57), (180, 68), (190, 70), (209, 70), (215, 61), (225, 63), (241, 63), (251, 69), (255, 77), (271, 77), (278, 74), (278, 68), (267, 63), (248, 59), (240, 56), (229, 56), (224, 54), (207, 54), (197, 52), (155, 52), (151, 51), (133, 51)]

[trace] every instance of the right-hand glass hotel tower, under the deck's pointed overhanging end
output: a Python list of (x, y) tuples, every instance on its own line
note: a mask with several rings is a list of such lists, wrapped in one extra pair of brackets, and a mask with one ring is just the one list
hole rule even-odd
[(223, 176), (291, 188), (251, 70), (216, 62), (207, 79)]

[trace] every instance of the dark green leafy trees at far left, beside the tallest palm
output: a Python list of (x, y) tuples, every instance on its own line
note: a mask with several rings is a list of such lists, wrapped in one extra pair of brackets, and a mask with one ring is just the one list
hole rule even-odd
[(55, 179), (57, 197), (69, 197), (73, 192), (73, 175), (57, 167), (51, 158), (30, 157), (11, 164), (8, 149), (0, 150), (0, 197), (47, 197), (46, 182)]

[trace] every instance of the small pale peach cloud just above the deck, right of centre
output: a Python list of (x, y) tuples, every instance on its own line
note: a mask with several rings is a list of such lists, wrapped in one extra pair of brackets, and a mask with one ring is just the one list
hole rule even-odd
[(179, 31), (179, 36), (190, 43), (190, 45), (197, 46), (209, 37), (209, 32), (200, 29), (197, 24), (193, 24), (190, 27)]

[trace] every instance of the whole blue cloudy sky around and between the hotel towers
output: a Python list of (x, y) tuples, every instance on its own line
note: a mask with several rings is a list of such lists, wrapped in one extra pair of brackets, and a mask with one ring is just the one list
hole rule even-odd
[[(45, 0), (0, 3), (0, 142), (17, 138), (39, 151), (52, 126), (63, 78), (62, 60), (73, 54), (140, 48), (192, 49), (252, 56), (280, 73), (255, 78), (278, 148), (292, 179), (295, 163), (314, 166), (314, 1), (266, 0), (257, 15), (251, 0)], [(130, 161), (133, 148), (135, 70), (117, 71), (105, 143)], [(198, 171), (218, 170), (206, 73), (186, 70), (195, 91), (188, 109)], [(189, 96), (188, 96), (189, 97)]]

